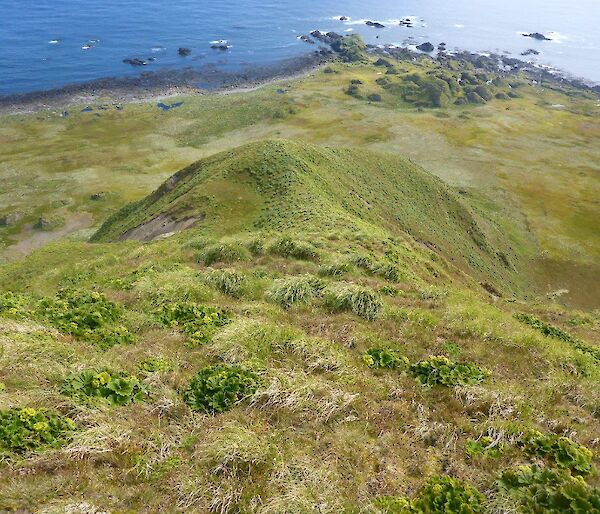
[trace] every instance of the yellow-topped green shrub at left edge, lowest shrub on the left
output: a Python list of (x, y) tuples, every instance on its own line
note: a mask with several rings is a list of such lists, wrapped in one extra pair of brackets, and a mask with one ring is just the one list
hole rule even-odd
[(47, 409), (12, 408), (0, 410), (0, 449), (26, 453), (66, 444), (75, 423)]

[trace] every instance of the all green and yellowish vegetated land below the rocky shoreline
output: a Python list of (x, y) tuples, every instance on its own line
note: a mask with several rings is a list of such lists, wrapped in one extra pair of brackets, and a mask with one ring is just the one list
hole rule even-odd
[(2, 117), (0, 511), (598, 510), (597, 99), (343, 41)]

